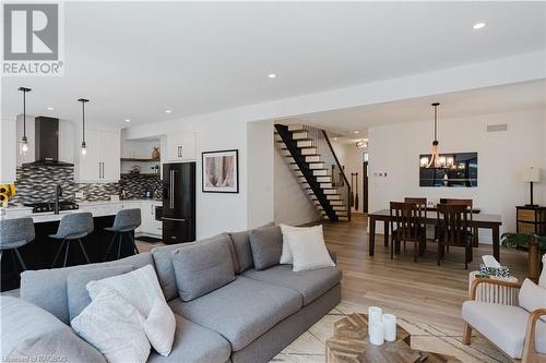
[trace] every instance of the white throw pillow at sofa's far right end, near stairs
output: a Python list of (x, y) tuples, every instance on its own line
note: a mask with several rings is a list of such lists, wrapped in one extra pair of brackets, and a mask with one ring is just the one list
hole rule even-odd
[(322, 226), (318, 227), (286, 234), (295, 273), (335, 266), (324, 244)]

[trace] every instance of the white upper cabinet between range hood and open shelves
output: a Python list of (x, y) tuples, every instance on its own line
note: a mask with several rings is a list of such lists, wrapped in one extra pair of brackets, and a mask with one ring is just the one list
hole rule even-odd
[[(81, 134), (81, 130), (79, 131)], [(85, 130), (86, 154), (80, 150), (81, 137), (76, 137), (78, 157), (74, 180), (80, 183), (111, 183), (120, 178), (120, 137), (117, 131)]]

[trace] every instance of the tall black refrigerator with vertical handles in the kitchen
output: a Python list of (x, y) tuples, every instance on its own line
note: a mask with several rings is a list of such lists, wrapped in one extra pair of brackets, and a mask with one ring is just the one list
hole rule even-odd
[(163, 242), (195, 241), (195, 162), (163, 165)]

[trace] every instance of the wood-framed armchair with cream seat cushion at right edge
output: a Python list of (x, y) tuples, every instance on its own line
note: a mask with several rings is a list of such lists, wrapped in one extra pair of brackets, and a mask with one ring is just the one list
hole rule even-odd
[[(476, 291), (480, 283), (495, 286), (495, 292), (487, 297), (487, 301), (476, 301)], [(466, 322), (463, 344), (470, 346), (472, 329), (476, 329), (514, 362), (546, 362), (546, 319), (544, 318), (546, 300), (539, 302), (541, 307), (532, 311), (521, 307), (518, 302), (521, 287), (519, 282), (476, 279), (471, 288), (471, 300), (464, 302), (462, 308), (462, 317)], [(543, 288), (535, 286), (535, 289)], [(499, 299), (499, 297), (503, 298)], [(499, 300), (503, 303), (498, 303)]]

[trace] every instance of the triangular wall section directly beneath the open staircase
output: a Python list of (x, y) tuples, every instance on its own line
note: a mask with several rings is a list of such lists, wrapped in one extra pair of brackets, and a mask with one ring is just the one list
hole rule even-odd
[(317, 208), (275, 147), (275, 222), (298, 226), (320, 218)]

